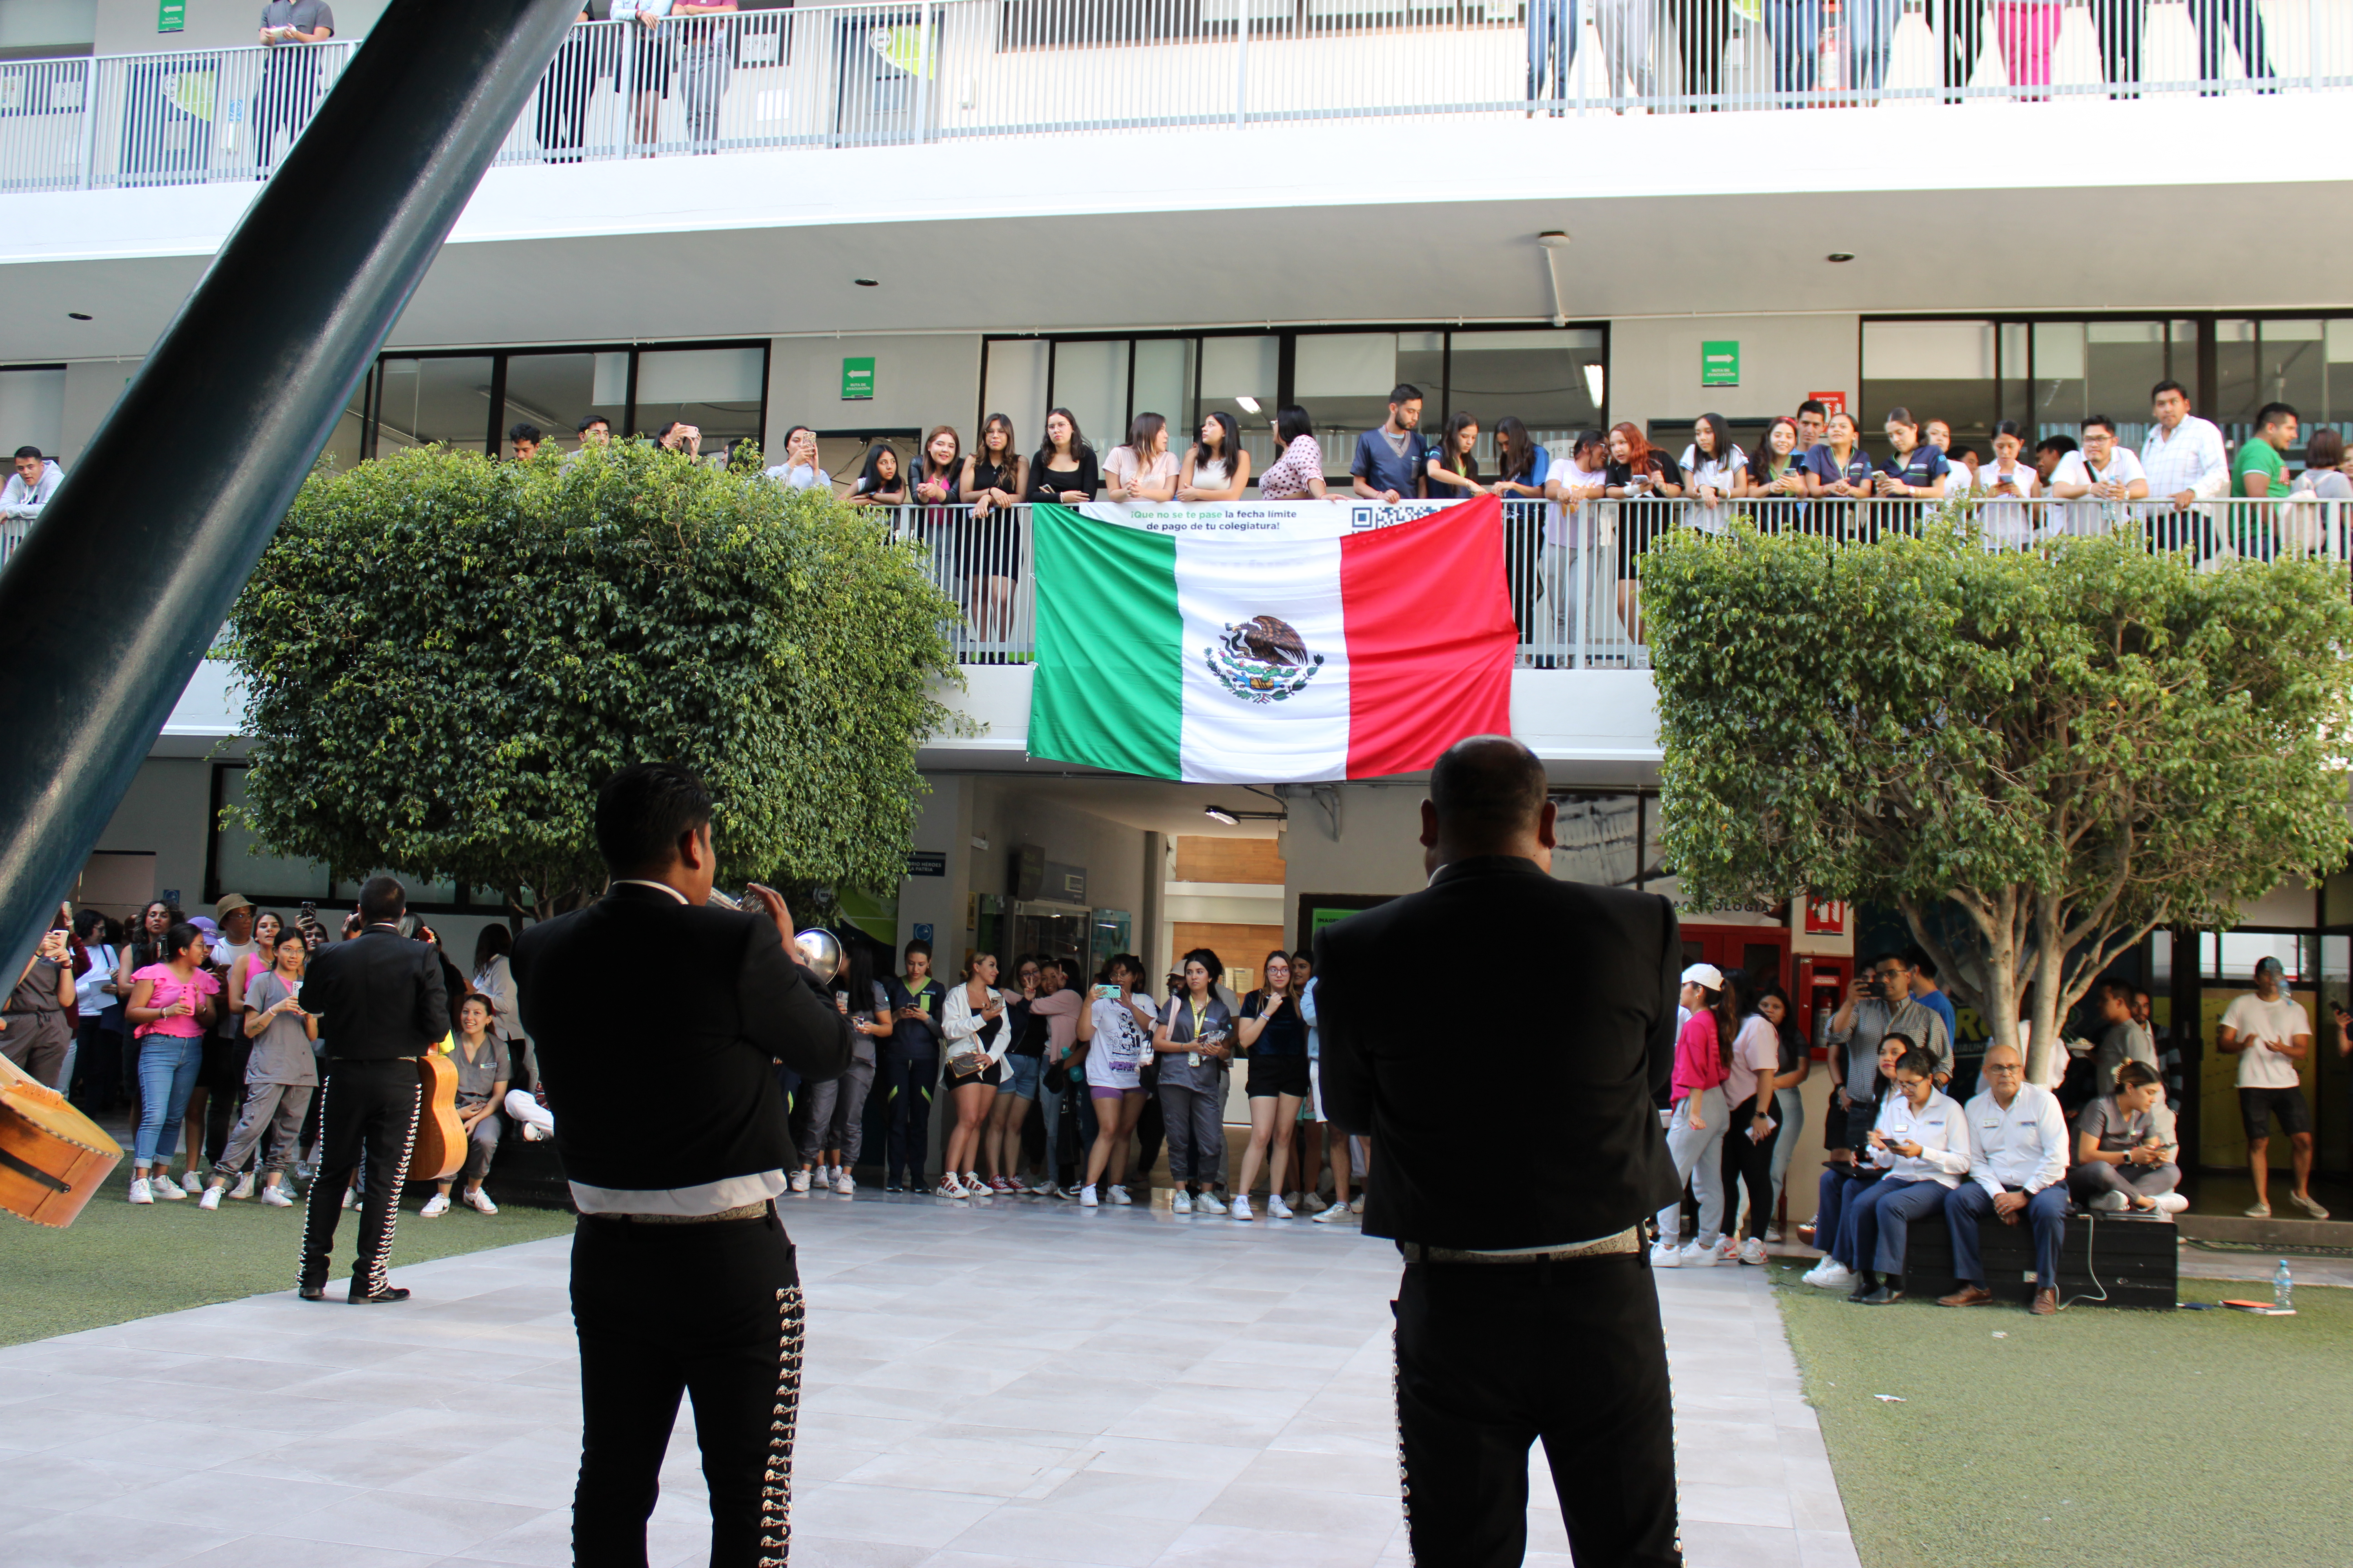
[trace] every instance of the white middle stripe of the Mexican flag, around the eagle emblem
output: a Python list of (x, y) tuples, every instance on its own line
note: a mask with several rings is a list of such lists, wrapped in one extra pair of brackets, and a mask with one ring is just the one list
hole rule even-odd
[[(1176, 541), (1184, 616), (1184, 776), (1200, 783), (1344, 778), (1348, 771), (1348, 630), (1339, 541)], [(1282, 621), (1322, 668), (1282, 698), (1238, 696), (1212, 665), (1231, 625)], [(1247, 654), (1245, 654), (1247, 658)], [(1292, 684), (1294, 677), (1285, 679)]]

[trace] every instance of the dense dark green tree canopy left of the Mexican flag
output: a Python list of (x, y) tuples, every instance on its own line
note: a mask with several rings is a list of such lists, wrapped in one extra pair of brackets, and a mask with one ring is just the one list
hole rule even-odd
[(315, 473), (231, 611), (259, 842), (336, 877), (605, 884), (598, 783), (692, 766), (722, 884), (896, 886), (953, 602), (882, 517), (649, 442)]

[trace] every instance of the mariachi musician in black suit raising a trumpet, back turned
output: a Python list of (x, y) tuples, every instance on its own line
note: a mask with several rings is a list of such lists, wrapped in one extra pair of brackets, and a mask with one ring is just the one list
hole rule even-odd
[[(581, 1345), (581, 1474), (572, 1561), (645, 1568), (678, 1399), (711, 1488), (713, 1568), (781, 1568), (800, 1406), (800, 1274), (774, 1197), (800, 1168), (774, 1063), (840, 1077), (856, 1037), (765, 919), (711, 907), (711, 792), (635, 764), (595, 802), (612, 889), (515, 940), (522, 1027), (581, 1211), (572, 1321)], [(652, 964), (664, 1006), (633, 1018), (614, 976)]]

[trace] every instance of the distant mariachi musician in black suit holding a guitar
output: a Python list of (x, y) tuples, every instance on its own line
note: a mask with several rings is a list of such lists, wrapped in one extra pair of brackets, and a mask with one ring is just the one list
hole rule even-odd
[(351, 1298), (360, 1305), (407, 1300), (384, 1279), (400, 1218), (400, 1187), (409, 1178), (424, 1079), (416, 1058), (449, 1034), (452, 997), (440, 971), (440, 947), (409, 940), (400, 929), (409, 893), (393, 877), (360, 889), (360, 933), (320, 947), (304, 969), (301, 1011), (318, 1013), (327, 1041), (327, 1086), (320, 1091), (318, 1175), (301, 1225), (304, 1300), (327, 1293), (334, 1222), (351, 1173), (367, 1154), (360, 1190), (360, 1255)]

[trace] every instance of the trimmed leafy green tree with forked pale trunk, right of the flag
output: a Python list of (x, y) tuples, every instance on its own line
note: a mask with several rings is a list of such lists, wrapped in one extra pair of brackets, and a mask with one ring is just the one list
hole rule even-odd
[(1642, 609), (1685, 903), (1894, 905), (2033, 1072), (2151, 929), (2346, 858), (2344, 564), (1737, 524), (1661, 541)]

